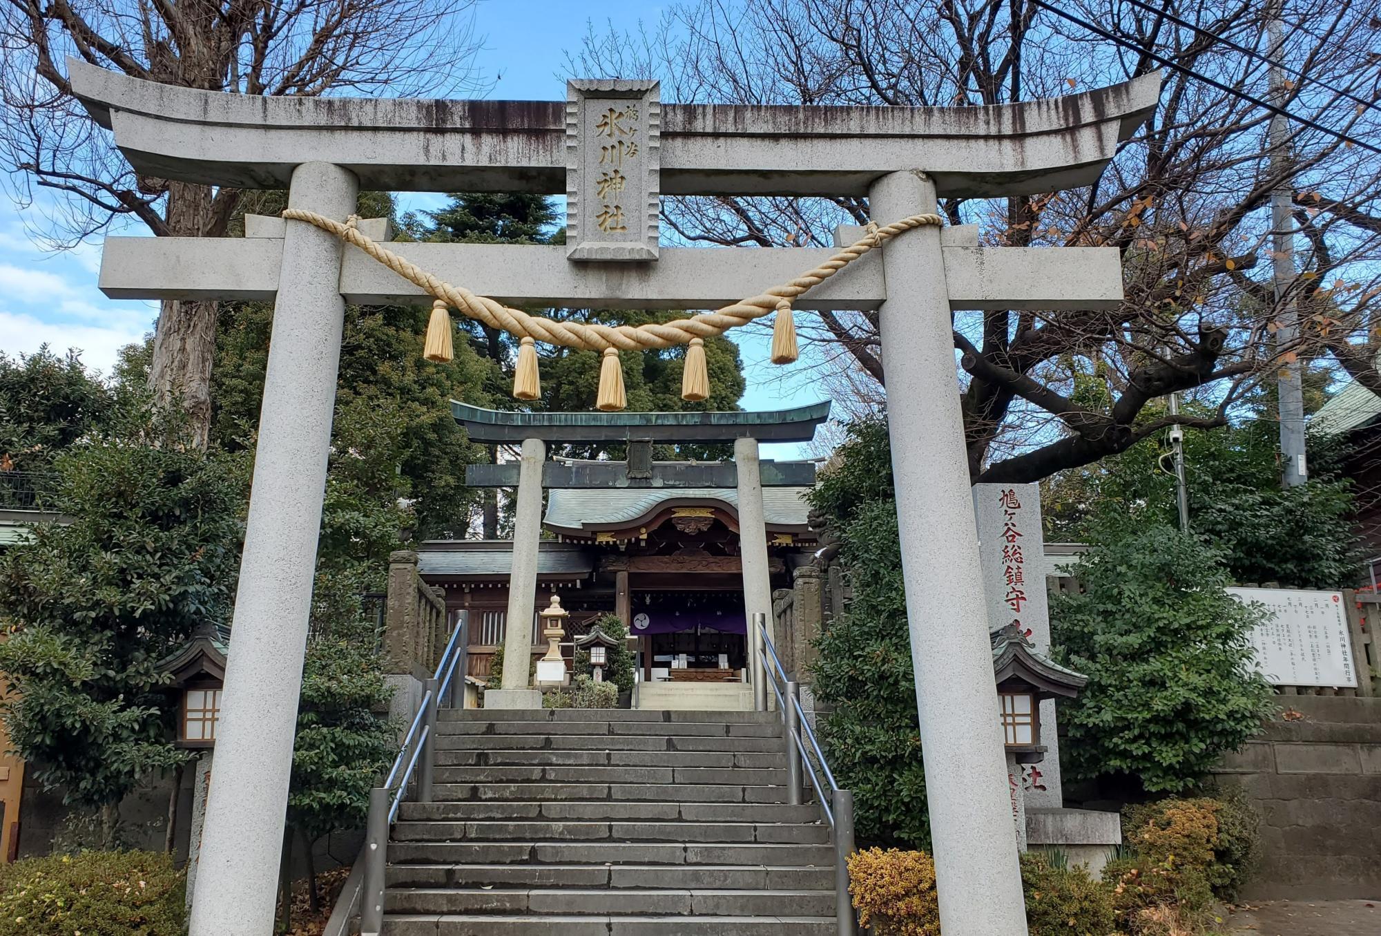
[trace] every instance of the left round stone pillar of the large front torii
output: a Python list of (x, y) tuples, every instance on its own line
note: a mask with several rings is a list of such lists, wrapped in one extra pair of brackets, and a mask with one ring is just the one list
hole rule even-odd
[[(340, 217), (355, 210), (358, 192), (349, 171), (305, 163), (287, 203)], [(287, 222), (225, 667), (233, 704), (217, 732), (192, 896), (199, 936), (268, 933), (273, 921), (345, 324), (342, 254), (325, 231)], [(239, 908), (238, 921), (228, 907)]]

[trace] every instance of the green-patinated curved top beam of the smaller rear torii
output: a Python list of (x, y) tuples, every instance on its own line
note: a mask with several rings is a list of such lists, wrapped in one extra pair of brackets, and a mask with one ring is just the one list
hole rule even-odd
[(512, 442), (523, 438), (559, 442), (731, 442), (737, 438), (805, 442), (813, 438), (815, 427), (830, 418), (830, 402), (762, 413), (526, 413), (486, 410), (452, 400), (450, 411), (476, 442)]

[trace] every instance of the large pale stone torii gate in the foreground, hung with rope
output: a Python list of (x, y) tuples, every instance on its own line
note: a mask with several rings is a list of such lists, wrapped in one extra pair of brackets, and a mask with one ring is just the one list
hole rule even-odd
[[(659, 248), (659, 195), (867, 196), (887, 224), (935, 211), (939, 196), (1085, 185), (1159, 94), (1159, 76), (1146, 76), (986, 108), (663, 106), (655, 83), (631, 81), (573, 81), (566, 102), (257, 98), (75, 61), (69, 69), (80, 99), (142, 174), (286, 186), (290, 207), (337, 220), (355, 210), (362, 186), (566, 193), (569, 247), (391, 247), (503, 302), (617, 308), (725, 305), (831, 253)], [(595, 106), (620, 99), (641, 108), (644, 159), (627, 177), (621, 206), (631, 207), (598, 213), (588, 137)], [(309, 224), (254, 228), (260, 236), (246, 239), (109, 237), (101, 266), (110, 297), (275, 302), (192, 936), (272, 928), (344, 304), (423, 301), (417, 287)], [(946, 936), (1026, 932), (950, 312), (1120, 301), (1113, 248), (983, 248), (976, 229), (961, 226), (911, 231), (795, 302), (881, 318)]]

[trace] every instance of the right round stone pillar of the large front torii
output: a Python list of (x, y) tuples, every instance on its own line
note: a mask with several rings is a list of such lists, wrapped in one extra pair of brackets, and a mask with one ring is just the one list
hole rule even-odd
[[(935, 184), (892, 173), (873, 184), (869, 204), (878, 218), (931, 213)], [(898, 237), (882, 265), (887, 421), (940, 928), (946, 936), (1021, 935), (1026, 911), (993, 716), (997, 683), (940, 231)]]

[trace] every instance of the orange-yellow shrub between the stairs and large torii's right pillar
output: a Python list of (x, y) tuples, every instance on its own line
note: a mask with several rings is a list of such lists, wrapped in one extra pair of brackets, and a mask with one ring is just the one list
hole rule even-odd
[(939, 936), (935, 863), (925, 852), (870, 848), (849, 856), (849, 893), (877, 936)]

